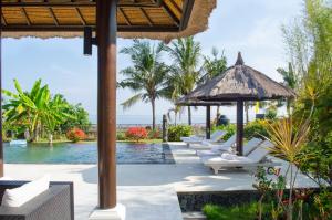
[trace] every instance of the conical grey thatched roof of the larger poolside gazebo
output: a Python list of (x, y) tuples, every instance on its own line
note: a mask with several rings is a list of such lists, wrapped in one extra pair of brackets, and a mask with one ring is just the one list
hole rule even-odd
[(241, 53), (234, 66), (206, 84), (198, 86), (186, 98), (201, 101), (263, 101), (292, 98), (295, 93), (259, 71), (245, 65)]

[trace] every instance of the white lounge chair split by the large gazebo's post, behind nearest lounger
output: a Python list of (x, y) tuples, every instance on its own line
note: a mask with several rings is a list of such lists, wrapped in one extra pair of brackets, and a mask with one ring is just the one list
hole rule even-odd
[[(210, 150), (197, 150), (197, 155), (199, 157), (212, 157), (212, 156), (220, 155), (222, 151), (231, 153), (232, 147), (235, 146), (236, 136), (230, 137), (229, 139), (231, 139), (231, 142), (234, 142), (232, 145), (229, 145), (229, 144), (228, 145), (217, 145), (217, 146), (214, 146)], [(255, 148), (257, 148), (262, 142), (263, 140), (260, 138), (256, 138), (256, 137), (251, 138), (247, 144), (243, 145), (243, 155), (245, 156), (249, 155), (249, 153), (251, 153)]]

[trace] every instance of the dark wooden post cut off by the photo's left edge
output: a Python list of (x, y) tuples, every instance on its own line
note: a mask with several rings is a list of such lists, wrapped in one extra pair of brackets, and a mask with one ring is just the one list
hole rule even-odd
[[(0, 0), (0, 12), (2, 12), (2, 0)], [(3, 144), (2, 144), (2, 53), (1, 53), (1, 41), (2, 41), (2, 23), (0, 22), (0, 177), (3, 177)]]

